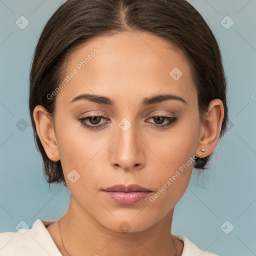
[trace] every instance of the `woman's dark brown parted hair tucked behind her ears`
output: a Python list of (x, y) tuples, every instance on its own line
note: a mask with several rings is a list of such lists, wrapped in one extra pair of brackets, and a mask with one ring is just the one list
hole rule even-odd
[[(226, 79), (218, 43), (200, 13), (186, 0), (67, 0), (50, 17), (37, 42), (30, 70), (29, 113), (45, 178), (66, 186), (60, 160), (51, 161), (37, 135), (33, 110), (42, 105), (54, 117), (55, 98), (47, 98), (61, 82), (65, 60), (84, 42), (125, 30), (148, 32), (187, 56), (198, 97), (200, 117), (210, 100), (224, 105), (220, 136), (227, 129)], [(196, 158), (196, 170), (205, 169), (209, 156)]]

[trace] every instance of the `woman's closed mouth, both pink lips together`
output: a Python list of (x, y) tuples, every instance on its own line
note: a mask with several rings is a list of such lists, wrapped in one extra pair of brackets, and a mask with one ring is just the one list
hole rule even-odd
[(104, 194), (119, 204), (134, 204), (146, 198), (152, 190), (137, 184), (116, 184), (101, 189)]

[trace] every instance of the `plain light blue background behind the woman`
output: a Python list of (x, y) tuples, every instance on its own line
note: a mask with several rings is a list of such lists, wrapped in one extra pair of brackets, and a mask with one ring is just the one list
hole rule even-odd
[[(69, 191), (54, 184), (50, 191), (44, 180), (28, 114), (34, 47), (46, 21), (63, 2), (0, 1), (0, 232), (17, 231), (15, 226), (21, 220), (29, 227), (37, 218), (55, 220), (68, 207)], [(197, 176), (192, 175), (175, 207), (172, 232), (219, 255), (255, 255), (256, 1), (189, 2), (205, 18), (219, 43), (228, 81), (231, 125), (199, 185)], [(21, 15), (29, 21), (23, 30), (15, 24)], [(229, 29), (220, 23), (226, 15), (234, 21)], [(24, 131), (16, 127), (21, 118), (29, 124)], [(234, 226), (229, 234), (220, 229), (226, 220)]]

